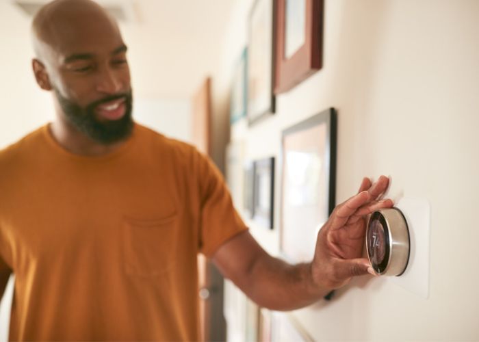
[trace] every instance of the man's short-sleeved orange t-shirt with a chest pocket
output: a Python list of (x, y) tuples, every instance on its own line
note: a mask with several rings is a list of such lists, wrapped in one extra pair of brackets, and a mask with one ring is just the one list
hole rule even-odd
[(83, 157), (44, 126), (0, 152), (10, 339), (198, 340), (196, 255), (246, 229), (194, 147), (135, 124)]

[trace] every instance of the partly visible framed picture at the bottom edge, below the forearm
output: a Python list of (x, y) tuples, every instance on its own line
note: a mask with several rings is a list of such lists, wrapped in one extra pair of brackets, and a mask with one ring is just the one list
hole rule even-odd
[(272, 313), (272, 342), (311, 342), (313, 338), (290, 313)]

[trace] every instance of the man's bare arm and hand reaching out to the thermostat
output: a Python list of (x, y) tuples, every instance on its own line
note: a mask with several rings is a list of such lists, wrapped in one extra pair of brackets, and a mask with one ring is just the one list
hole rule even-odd
[(248, 232), (226, 241), (213, 262), (261, 306), (273, 310), (307, 306), (346, 285), (353, 276), (368, 272), (369, 262), (361, 258), (365, 215), (392, 207), (391, 200), (377, 200), (388, 183), (385, 176), (374, 184), (364, 179), (359, 194), (335, 208), (318, 233), (311, 263), (289, 265), (271, 257)]

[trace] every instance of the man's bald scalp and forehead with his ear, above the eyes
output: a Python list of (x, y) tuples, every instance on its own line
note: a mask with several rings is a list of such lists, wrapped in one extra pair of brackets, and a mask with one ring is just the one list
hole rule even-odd
[[(41, 88), (62, 88), (61, 73), (75, 60), (95, 60), (125, 52), (114, 18), (91, 0), (55, 0), (34, 17), (34, 73)], [(76, 68), (78, 69), (78, 68)], [(75, 70), (76, 70), (75, 69)], [(55, 84), (57, 83), (57, 84)], [(65, 89), (60, 89), (66, 92)]]

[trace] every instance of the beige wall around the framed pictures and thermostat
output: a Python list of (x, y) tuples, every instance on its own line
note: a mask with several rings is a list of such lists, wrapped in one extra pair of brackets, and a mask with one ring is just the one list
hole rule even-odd
[[(252, 3), (237, 1), (226, 30), (217, 118), (227, 115)], [(245, 140), (250, 159), (279, 156), (283, 129), (335, 107), (338, 202), (379, 174), (392, 176), (391, 196), (430, 201), (430, 295), (363, 277), (294, 315), (318, 340), (477, 340), (479, 1), (326, 0), (324, 18), (322, 70), (279, 96), (274, 117), (236, 124), (231, 139)], [(272, 253), (279, 196), (275, 211), (272, 233), (249, 222)]]

